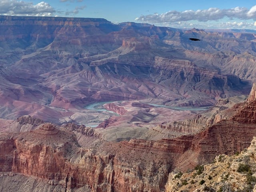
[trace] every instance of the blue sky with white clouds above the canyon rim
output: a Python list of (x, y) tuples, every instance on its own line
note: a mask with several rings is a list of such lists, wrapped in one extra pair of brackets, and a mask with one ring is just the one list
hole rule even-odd
[(0, 0), (0, 15), (105, 18), (173, 28), (254, 29), (256, 0)]

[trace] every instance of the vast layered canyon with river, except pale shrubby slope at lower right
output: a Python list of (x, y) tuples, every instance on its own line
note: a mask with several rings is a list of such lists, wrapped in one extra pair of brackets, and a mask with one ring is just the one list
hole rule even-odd
[(175, 191), (177, 170), (256, 135), (253, 33), (58, 17), (0, 26), (3, 192)]

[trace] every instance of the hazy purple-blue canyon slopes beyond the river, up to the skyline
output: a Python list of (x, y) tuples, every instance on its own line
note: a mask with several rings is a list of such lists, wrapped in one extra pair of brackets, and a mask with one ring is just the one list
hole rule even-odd
[(209, 106), (256, 78), (254, 34), (92, 18), (0, 16), (0, 27), (1, 118), (81, 123), (76, 112), (100, 101)]

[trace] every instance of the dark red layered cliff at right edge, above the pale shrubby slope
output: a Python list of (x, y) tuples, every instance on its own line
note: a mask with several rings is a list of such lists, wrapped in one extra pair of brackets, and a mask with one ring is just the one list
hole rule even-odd
[[(252, 87), (251, 94), (248, 98), (254, 96), (255, 84)], [(236, 113), (220, 122), (206, 128), (202, 132), (195, 135), (190, 150), (184, 153), (184, 164), (186, 167), (186, 156), (191, 155), (196, 159), (196, 164), (210, 162), (216, 154), (234, 154), (250, 145), (250, 140), (256, 134), (255, 125), (255, 104), (256, 100), (248, 99), (242, 106), (235, 105)]]

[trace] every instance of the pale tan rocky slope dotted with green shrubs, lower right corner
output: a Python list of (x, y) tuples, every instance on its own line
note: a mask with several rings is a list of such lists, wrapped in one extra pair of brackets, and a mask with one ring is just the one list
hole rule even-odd
[[(255, 137), (254, 137), (255, 138)], [(165, 191), (255, 191), (255, 139), (250, 147), (233, 156), (220, 154), (211, 164), (198, 165), (190, 172), (171, 172)]]

